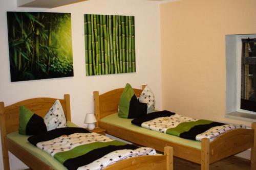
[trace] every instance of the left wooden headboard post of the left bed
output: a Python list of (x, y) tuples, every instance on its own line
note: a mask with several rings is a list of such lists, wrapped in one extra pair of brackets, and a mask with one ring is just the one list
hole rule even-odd
[(3, 161), (4, 161), (4, 169), (9, 170), (9, 155), (8, 150), (6, 149), (5, 145), (5, 136), (6, 136), (6, 129), (5, 129), (5, 104), (4, 102), (0, 102), (0, 126), (1, 126), (1, 141), (2, 141), (2, 153), (3, 153)]

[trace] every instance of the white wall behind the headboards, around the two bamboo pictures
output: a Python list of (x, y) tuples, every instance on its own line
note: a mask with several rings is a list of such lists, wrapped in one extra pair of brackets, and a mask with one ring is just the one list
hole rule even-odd
[[(6, 11), (67, 12), (72, 17), (74, 77), (24, 82), (10, 82)], [(83, 14), (135, 16), (136, 73), (86, 77), (83, 39)], [(63, 98), (71, 95), (72, 121), (84, 127), (84, 115), (93, 112), (93, 91), (100, 93), (124, 87), (126, 82), (135, 88), (150, 85), (155, 93), (156, 107), (161, 109), (160, 25), (157, 2), (145, 0), (90, 0), (54, 9), (17, 8), (16, 0), (0, 2), (0, 101), (10, 105), (36, 97)], [(2, 148), (0, 169), (3, 169)], [(11, 169), (26, 167), (12, 154)]]

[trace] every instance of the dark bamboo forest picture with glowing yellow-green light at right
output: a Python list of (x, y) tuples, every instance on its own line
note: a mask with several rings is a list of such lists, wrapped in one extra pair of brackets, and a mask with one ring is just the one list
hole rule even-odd
[(7, 12), (11, 82), (73, 76), (71, 14)]

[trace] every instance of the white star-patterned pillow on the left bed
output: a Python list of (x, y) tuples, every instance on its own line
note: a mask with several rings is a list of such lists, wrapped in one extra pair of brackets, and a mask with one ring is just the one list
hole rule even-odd
[(67, 127), (66, 117), (59, 100), (56, 100), (54, 102), (53, 106), (45, 115), (44, 120), (47, 127), (47, 131)]

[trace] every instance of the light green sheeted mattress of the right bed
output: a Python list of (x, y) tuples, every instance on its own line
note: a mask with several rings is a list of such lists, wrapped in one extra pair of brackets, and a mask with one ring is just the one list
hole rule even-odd
[(102, 122), (102, 123), (106, 123), (106, 124), (113, 125), (116, 127), (124, 128), (124, 129), (130, 130), (130, 131), (142, 133), (145, 135), (153, 136), (153, 137), (156, 137), (159, 139), (164, 139), (164, 140), (167, 140), (167, 141), (170, 141), (173, 143), (186, 145), (188, 147), (201, 149), (200, 141), (184, 139), (184, 138), (180, 138), (180, 137), (173, 136), (173, 135), (168, 135), (168, 134), (164, 134), (164, 133), (160, 133), (160, 132), (156, 132), (156, 131), (151, 131), (151, 130), (139, 127), (137, 125), (133, 125), (131, 123), (131, 121), (132, 121), (132, 119), (129, 119), (129, 118), (118, 117), (117, 113), (105, 116), (100, 119), (100, 122)]

